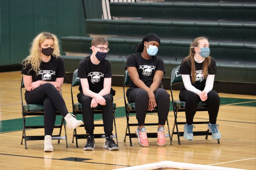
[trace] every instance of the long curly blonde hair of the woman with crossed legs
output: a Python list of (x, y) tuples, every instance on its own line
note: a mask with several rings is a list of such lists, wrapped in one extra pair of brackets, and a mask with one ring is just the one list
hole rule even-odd
[(49, 32), (39, 33), (31, 42), (29, 56), (27, 56), (26, 59), (24, 59), (22, 61), (22, 64), (25, 65), (25, 68), (26, 68), (27, 64), (31, 64), (32, 68), (30, 70), (34, 70), (36, 72), (36, 75), (37, 75), (38, 71), (41, 71), (40, 64), (41, 64), (42, 60), (40, 57), (41, 56), (40, 55), (41, 54), (40, 46), (46, 39), (53, 40), (54, 48), (53, 48), (52, 55), (55, 56), (56, 58), (58, 58), (58, 56), (60, 56), (59, 40), (58, 40), (57, 36), (52, 33), (49, 33)]

